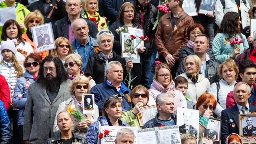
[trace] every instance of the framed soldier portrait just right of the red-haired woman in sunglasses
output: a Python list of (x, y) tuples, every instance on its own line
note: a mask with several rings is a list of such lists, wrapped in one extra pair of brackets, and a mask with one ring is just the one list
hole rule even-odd
[(210, 118), (208, 121), (207, 128), (203, 133), (203, 144), (220, 143), (220, 134), (221, 134), (221, 120)]

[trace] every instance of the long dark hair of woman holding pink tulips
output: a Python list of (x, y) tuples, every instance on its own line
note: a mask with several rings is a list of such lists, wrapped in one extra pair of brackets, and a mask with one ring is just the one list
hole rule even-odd
[(229, 37), (232, 37), (236, 34), (241, 34), (241, 30), (239, 28), (238, 24), (239, 20), (239, 14), (236, 12), (227, 12), (220, 24), (220, 28), (217, 31), (218, 33), (226, 33), (229, 35)]

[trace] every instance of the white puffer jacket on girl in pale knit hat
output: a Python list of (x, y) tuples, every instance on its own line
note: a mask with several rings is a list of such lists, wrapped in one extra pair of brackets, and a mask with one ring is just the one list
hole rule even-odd
[[(22, 65), (20, 66), (23, 68), (23, 71), (25, 72), (24, 67)], [(5, 77), (10, 88), (10, 95), (11, 97), (13, 97), (14, 88), (16, 86), (16, 82), (18, 79), (15, 74), (14, 62), (7, 63), (4, 60), (4, 62), (0, 64), (0, 74)]]

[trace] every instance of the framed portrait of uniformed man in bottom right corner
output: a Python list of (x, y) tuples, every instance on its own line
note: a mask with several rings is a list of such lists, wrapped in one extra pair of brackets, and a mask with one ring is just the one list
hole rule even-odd
[(238, 114), (242, 143), (256, 143), (256, 114)]

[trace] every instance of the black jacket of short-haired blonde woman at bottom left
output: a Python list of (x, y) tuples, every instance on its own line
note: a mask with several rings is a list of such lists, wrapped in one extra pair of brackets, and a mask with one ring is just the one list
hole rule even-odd
[[(73, 135), (72, 143), (80, 142), (82, 144), (87, 144), (85, 138), (80, 137), (79, 135), (74, 134), (73, 131), (72, 131), (72, 135)], [(57, 135), (55, 135), (54, 137), (48, 138), (46, 140), (45, 144), (62, 144), (62, 141), (60, 140), (60, 132)]]

